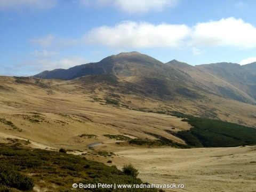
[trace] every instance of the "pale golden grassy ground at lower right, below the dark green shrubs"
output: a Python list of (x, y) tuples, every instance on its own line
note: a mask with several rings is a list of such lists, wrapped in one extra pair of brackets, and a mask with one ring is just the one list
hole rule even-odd
[[(154, 184), (184, 185), (165, 191), (255, 191), (256, 146), (197, 149), (130, 149), (115, 154)], [(114, 162), (119, 167), (122, 161)]]

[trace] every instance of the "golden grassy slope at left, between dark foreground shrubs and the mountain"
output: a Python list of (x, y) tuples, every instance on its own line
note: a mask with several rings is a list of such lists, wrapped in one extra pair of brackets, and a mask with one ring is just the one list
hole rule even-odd
[[(94, 102), (90, 94), (67, 93), (71, 89), (70, 85), (63, 85), (67, 90), (54, 90), (53, 94), (47, 94), (47, 90), (35, 86), (15, 84), (12, 77), (7, 80), (10, 82), (5, 81), (5, 87), (11, 87), (11, 91), (1, 91), (0, 114), (18, 129), (2, 123), (0, 131), (51, 147), (85, 150), (90, 143), (107, 142), (109, 139), (103, 134), (127, 134), (155, 139), (145, 132), (184, 143), (164, 130), (190, 128), (187, 122), (181, 122), (181, 118), (174, 116), (100, 105), (100, 102)], [(98, 94), (98, 97), (104, 96)], [(98, 137), (81, 138), (81, 134), (94, 134)]]

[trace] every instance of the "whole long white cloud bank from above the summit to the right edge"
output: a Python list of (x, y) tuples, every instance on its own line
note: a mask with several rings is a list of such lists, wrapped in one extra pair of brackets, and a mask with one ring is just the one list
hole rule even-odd
[(124, 21), (114, 27), (94, 28), (85, 35), (84, 41), (109, 47), (226, 46), (252, 49), (256, 47), (256, 28), (232, 17), (197, 23), (193, 27)]

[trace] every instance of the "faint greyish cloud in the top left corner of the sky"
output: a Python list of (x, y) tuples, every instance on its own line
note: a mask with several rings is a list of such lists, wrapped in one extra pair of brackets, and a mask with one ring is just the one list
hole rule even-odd
[(2, 10), (45, 10), (51, 9), (57, 4), (58, 0), (0, 0)]

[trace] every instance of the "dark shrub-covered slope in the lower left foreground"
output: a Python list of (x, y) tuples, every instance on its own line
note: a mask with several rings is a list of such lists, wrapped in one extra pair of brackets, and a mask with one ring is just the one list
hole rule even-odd
[[(37, 188), (40, 191), (73, 191), (73, 183), (138, 184), (142, 181), (125, 171), (79, 156), (41, 149), (0, 144), (0, 191)], [(65, 150), (62, 150), (65, 152)], [(129, 165), (130, 166), (130, 165)], [(83, 191), (112, 191), (94, 188)], [(125, 189), (115, 191), (157, 191)]]

